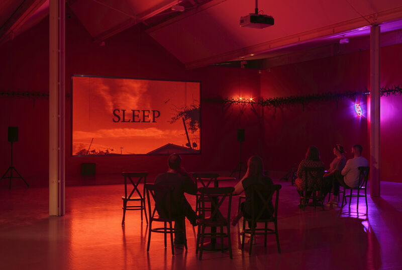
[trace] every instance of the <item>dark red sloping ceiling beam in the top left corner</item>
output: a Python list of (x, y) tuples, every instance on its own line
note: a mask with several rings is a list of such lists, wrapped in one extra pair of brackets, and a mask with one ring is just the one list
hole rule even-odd
[(14, 33), (46, 2), (25, 0), (0, 28), (0, 45), (14, 38)]

